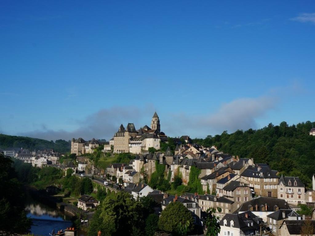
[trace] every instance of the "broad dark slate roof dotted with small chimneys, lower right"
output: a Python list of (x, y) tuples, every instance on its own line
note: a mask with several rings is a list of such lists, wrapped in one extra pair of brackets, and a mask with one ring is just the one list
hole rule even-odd
[(262, 211), (262, 207), (265, 207), (265, 204), (267, 204), (268, 211), (275, 211), (276, 207), (279, 209), (290, 209), (284, 199), (259, 197), (243, 203), (237, 211), (248, 211), (249, 205), (253, 206), (253, 211), (256, 211), (256, 205), (258, 207), (258, 211)]

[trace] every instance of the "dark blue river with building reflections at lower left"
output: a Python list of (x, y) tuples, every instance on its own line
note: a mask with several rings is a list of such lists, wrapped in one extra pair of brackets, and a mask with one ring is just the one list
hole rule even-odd
[[(31, 217), (33, 225), (31, 233), (34, 235), (49, 236), (54, 229), (58, 232), (67, 227), (74, 227), (72, 216), (65, 214), (49, 205), (39, 202), (31, 196), (27, 196), (26, 208), (27, 217)], [(78, 232), (78, 236), (85, 236), (85, 232)]]

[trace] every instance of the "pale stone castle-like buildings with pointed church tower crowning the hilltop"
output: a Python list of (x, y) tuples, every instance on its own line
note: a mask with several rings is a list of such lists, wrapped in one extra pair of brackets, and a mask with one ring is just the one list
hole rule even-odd
[(161, 132), (160, 119), (155, 112), (152, 117), (151, 128), (145, 125), (136, 130), (133, 123), (128, 123), (126, 128), (121, 124), (114, 134), (114, 153), (140, 154), (142, 150), (147, 151), (151, 147), (160, 149), (161, 138), (165, 137), (167, 136)]

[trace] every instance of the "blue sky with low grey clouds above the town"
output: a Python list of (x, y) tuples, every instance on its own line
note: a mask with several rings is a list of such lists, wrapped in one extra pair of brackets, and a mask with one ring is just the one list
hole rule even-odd
[(2, 1), (0, 132), (205, 137), (314, 121), (314, 1)]

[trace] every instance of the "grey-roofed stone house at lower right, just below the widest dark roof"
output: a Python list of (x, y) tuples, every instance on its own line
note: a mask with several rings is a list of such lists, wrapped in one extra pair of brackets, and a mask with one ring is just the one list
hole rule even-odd
[(278, 210), (269, 215), (267, 215), (267, 227), (271, 230), (272, 234), (275, 236), (281, 235), (280, 226), (284, 220), (301, 220), (301, 216), (293, 210)]

